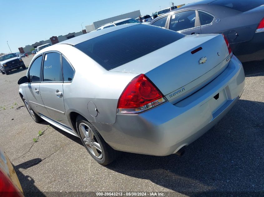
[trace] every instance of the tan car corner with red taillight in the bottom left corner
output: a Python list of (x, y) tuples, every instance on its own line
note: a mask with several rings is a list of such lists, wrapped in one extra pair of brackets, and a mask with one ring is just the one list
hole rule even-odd
[(0, 196), (23, 197), (17, 174), (7, 155), (0, 148)]

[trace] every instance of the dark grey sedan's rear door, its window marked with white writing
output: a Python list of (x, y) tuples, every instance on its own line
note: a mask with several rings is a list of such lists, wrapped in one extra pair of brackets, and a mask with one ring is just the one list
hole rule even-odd
[(188, 10), (171, 14), (167, 28), (185, 35), (201, 34), (198, 11)]

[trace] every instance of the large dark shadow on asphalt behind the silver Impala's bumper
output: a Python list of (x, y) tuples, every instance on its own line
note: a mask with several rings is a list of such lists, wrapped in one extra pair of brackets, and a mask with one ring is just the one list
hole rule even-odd
[(263, 192), (264, 185), (264, 124), (259, 113), (263, 111), (263, 102), (239, 100), (218, 124), (186, 147), (182, 157), (124, 153), (106, 167), (190, 196), (260, 195), (253, 191)]

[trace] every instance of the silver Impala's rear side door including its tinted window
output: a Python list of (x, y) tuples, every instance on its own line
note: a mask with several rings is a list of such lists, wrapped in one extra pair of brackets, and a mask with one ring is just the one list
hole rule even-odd
[(44, 54), (40, 92), (53, 120), (69, 126), (63, 100), (62, 56), (58, 52)]

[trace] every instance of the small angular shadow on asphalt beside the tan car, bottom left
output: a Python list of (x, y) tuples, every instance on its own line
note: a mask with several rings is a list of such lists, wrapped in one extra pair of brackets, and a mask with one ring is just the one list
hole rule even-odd
[[(21, 163), (17, 166), (14, 166), (14, 169), (17, 173), (17, 177), (19, 179), (20, 185), (22, 187), (22, 190), (24, 192), (25, 196), (45, 196), (35, 185), (34, 179), (32, 179), (30, 176), (24, 175), (22, 171), (23, 169), (27, 169), (29, 167), (37, 165), (39, 162), (41, 162), (41, 158), (35, 158), (32, 160), (29, 160), (27, 162)], [(19, 170), (20, 169), (20, 170)]]

